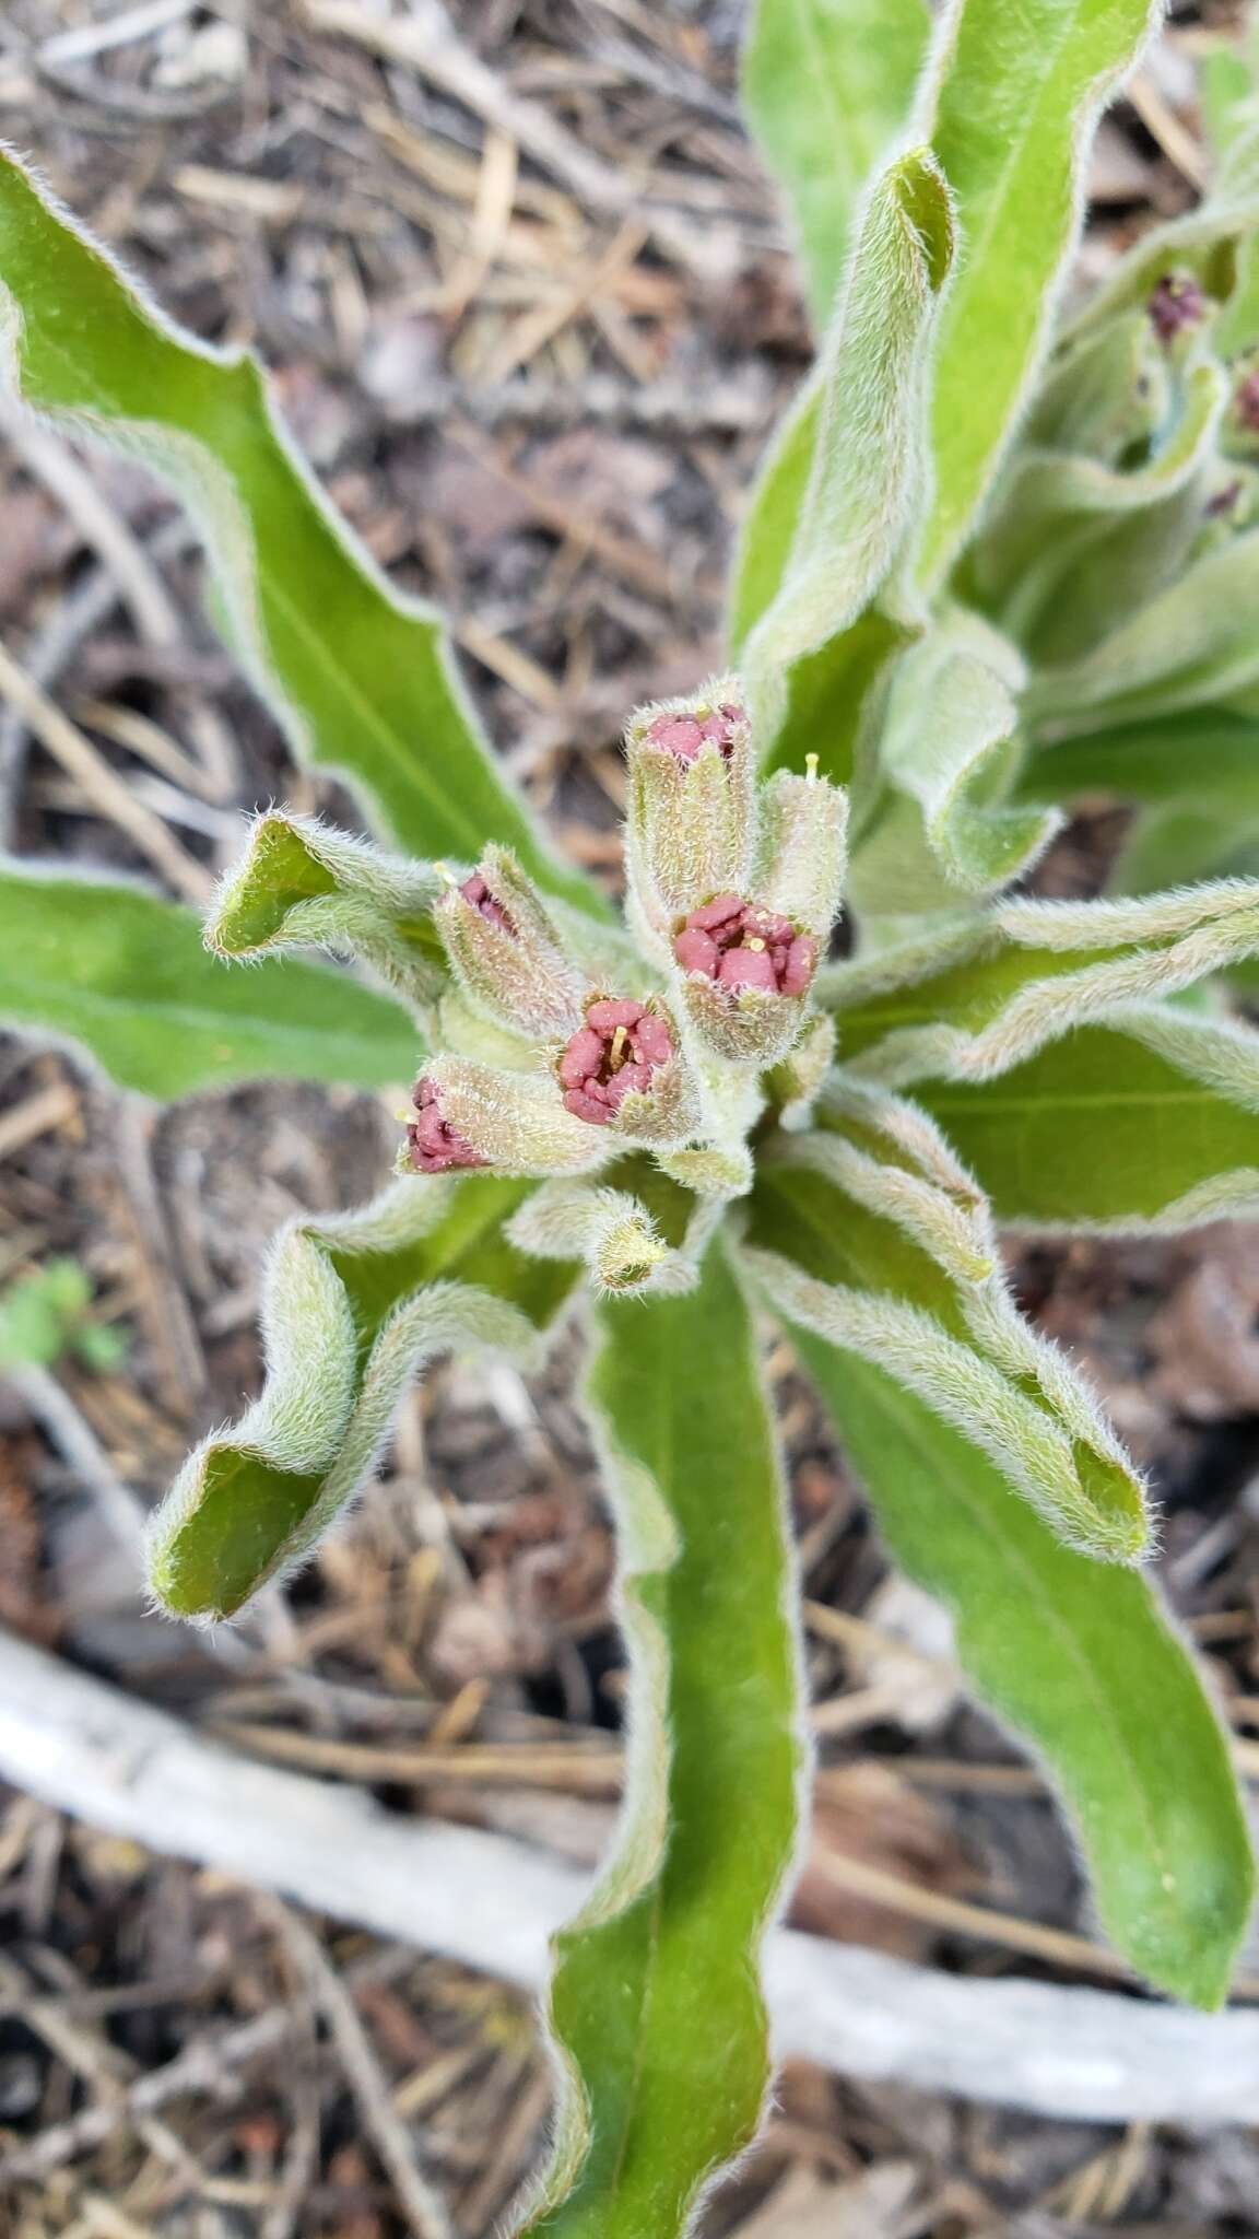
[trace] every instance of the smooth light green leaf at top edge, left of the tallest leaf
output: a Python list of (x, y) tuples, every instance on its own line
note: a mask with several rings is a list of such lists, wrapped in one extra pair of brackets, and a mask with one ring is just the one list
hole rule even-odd
[(927, 49), (923, 0), (757, 0), (744, 112), (786, 195), (824, 329), (867, 175), (905, 125)]

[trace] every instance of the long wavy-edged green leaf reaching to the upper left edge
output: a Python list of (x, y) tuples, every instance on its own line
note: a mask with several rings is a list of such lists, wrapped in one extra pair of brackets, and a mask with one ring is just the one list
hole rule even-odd
[(0, 148), (0, 378), (164, 475), (193, 513), (233, 647), (293, 752), (417, 855), (504, 840), (585, 907), (495, 770), (437, 611), (334, 515), (242, 352), (181, 334)]

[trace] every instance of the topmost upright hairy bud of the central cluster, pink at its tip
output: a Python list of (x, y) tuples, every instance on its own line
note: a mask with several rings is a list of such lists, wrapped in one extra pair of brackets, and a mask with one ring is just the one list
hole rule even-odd
[(753, 748), (739, 687), (724, 678), (630, 723), (627, 866), (636, 914), (659, 943), (706, 893), (746, 882)]

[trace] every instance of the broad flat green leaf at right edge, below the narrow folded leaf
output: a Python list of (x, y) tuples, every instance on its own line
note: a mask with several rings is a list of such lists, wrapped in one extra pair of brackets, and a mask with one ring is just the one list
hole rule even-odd
[(1255, 1218), (1255, 1034), (1165, 1012), (1163, 1037), (1156, 1048), (1122, 1025), (1080, 1025), (1001, 1079), (914, 1095), (999, 1222), (1131, 1234)]

